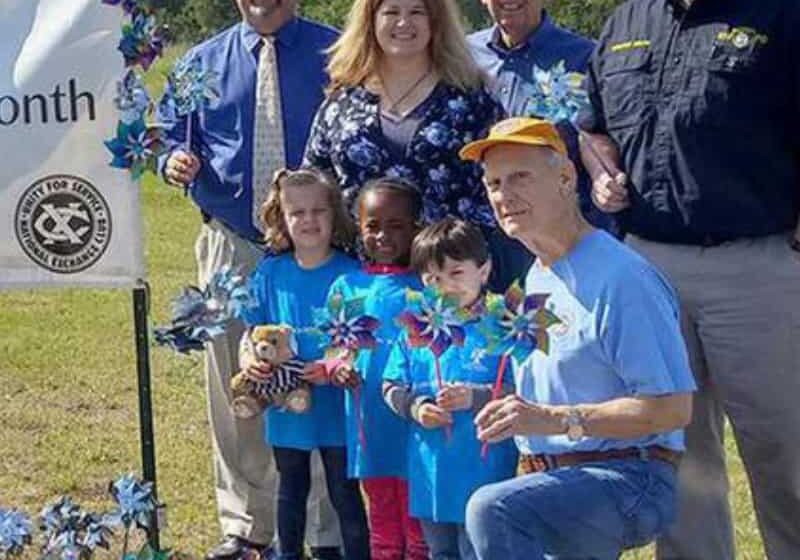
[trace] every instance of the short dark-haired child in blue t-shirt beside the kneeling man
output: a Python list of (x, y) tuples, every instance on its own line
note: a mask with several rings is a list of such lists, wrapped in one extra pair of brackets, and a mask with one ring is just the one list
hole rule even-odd
[[(491, 261), (480, 230), (445, 218), (414, 239), (411, 265), (426, 286), (452, 296), (467, 311), (462, 347), (451, 346), (439, 358), (438, 386), (433, 353), (411, 348), (405, 335), (392, 348), (384, 370), (384, 398), (411, 421), (408, 475), (411, 515), (422, 522), (432, 560), (472, 560), (475, 552), (464, 527), (467, 500), (481, 486), (514, 476), (513, 441), (481, 453), (474, 419), (491, 399), (499, 358), (480, 351), (486, 341), (478, 329), (483, 289)], [(506, 372), (503, 394), (513, 393)]]

